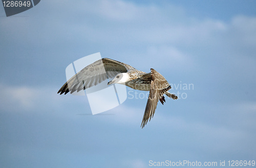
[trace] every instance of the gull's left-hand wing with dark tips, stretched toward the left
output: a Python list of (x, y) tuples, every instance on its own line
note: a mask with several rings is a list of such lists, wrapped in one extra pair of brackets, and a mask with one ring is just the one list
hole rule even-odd
[(119, 73), (126, 73), (134, 67), (109, 58), (102, 58), (84, 67), (70, 78), (58, 91), (67, 94), (69, 91), (80, 91), (95, 86), (108, 78), (114, 78)]

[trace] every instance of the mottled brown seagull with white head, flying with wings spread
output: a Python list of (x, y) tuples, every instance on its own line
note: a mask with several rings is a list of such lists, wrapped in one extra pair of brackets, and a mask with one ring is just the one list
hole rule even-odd
[(169, 83), (155, 69), (151, 68), (151, 73), (144, 73), (130, 65), (109, 58), (100, 59), (84, 67), (70, 78), (58, 93), (67, 94), (85, 90), (109, 78), (113, 80), (108, 82), (108, 85), (118, 83), (136, 90), (150, 91), (141, 123), (142, 128), (147, 124), (148, 119), (151, 120), (154, 116), (158, 100), (164, 104), (164, 94), (174, 100), (178, 99), (175, 94), (168, 92), (171, 88)]

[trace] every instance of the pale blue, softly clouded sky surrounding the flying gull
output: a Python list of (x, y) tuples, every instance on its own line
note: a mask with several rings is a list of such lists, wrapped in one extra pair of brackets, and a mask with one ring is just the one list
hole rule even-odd
[[(255, 1), (41, 1), (0, 16), (1, 167), (256, 159)], [(87, 97), (57, 91), (97, 52), (194, 87), (143, 129), (146, 98), (89, 115)]]

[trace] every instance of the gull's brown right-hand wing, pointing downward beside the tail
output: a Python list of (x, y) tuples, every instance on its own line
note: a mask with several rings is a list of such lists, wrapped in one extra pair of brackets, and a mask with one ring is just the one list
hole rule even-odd
[(151, 77), (152, 81), (150, 95), (148, 95), (146, 108), (141, 123), (142, 128), (146, 125), (148, 119), (151, 120), (151, 117), (154, 116), (158, 100), (162, 98), (163, 94), (171, 88), (166, 79), (153, 68), (151, 68)]

